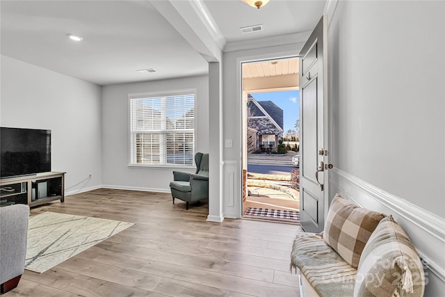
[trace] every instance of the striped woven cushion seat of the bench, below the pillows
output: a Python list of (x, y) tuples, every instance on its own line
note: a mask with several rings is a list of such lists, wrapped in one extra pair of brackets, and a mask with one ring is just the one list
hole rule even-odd
[(320, 296), (353, 296), (357, 270), (327, 246), (321, 234), (301, 233), (293, 241), (291, 270), (300, 268)]

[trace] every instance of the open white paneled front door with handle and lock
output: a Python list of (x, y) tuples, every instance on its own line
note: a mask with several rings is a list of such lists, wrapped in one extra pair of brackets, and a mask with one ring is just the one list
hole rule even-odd
[(307, 232), (323, 230), (329, 205), (326, 49), (323, 16), (300, 52), (300, 223)]

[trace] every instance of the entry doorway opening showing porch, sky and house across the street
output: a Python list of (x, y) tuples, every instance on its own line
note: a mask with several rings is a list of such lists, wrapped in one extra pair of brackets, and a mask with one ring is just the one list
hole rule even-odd
[(241, 66), (242, 217), (299, 223), (298, 58)]

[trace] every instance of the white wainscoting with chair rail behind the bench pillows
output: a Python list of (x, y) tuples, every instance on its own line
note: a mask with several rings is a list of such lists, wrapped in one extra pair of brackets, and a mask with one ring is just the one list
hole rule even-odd
[(360, 207), (391, 214), (410, 236), (426, 268), (425, 296), (442, 296), (439, 290), (445, 287), (444, 218), (334, 168), (330, 172), (330, 197), (336, 193)]

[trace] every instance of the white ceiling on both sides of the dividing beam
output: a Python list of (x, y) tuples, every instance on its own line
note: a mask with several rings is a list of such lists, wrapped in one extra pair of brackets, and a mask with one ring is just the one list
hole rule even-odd
[[(181, 1), (170, 1), (175, 2)], [(325, 1), (271, 0), (258, 10), (238, 0), (197, 2), (224, 44), (312, 31), (325, 6)], [(208, 72), (206, 59), (156, 1), (1, 0), (0, 6), (1, 54), (70, 77), (103, 86)], [(263, 24), (264, 31), (241, 33), (241, 27), (255, 24)], [(67, 33), (83, 41), (72, 42)], [(156, 72), (136, 71), (147, 68)]]

